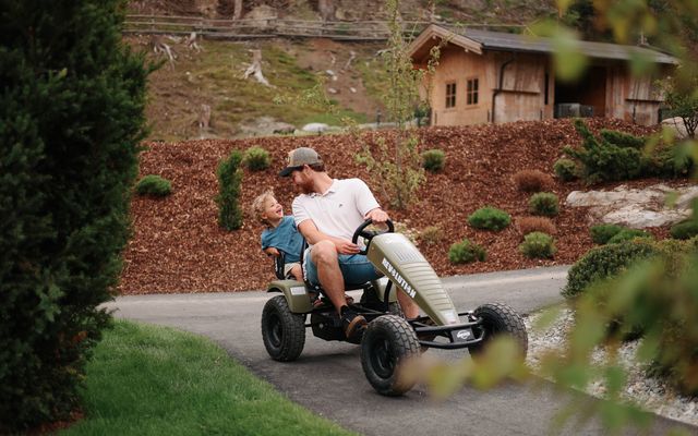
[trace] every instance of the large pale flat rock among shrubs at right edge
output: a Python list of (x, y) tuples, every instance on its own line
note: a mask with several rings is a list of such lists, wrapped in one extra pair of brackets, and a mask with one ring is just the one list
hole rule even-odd
[[(673, 208), (666, 207), (670, 193), (677, 193)], [(690, 203), (698, 197), (698, 186), (672, 189), (655, 184), (643, 190), (621, 185), (613, 191), (573, 191), (565, 204), (569, 207), (589, 207), (592, 222), (616, 223), (634, 229), (673, 225), (690, 216)]]

